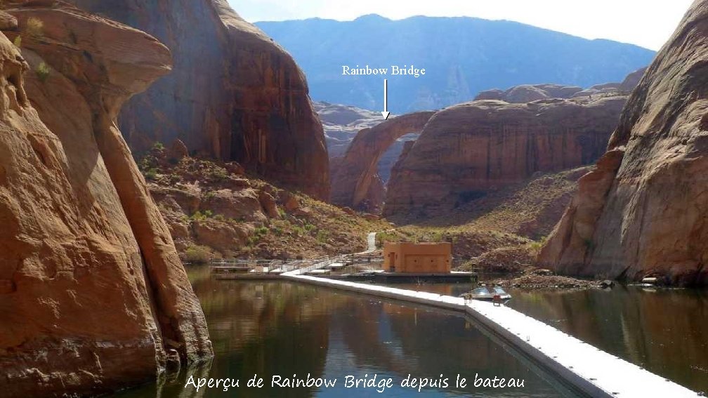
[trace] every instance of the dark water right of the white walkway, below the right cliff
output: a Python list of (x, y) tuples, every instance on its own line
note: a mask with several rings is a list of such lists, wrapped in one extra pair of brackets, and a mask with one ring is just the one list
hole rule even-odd
[[(459, 295), (471, 285), (398, 287)], [(507, 291), (513, 297), (509, 307), (708, 394), (707, 290), (617, 285), (607, 290)]]

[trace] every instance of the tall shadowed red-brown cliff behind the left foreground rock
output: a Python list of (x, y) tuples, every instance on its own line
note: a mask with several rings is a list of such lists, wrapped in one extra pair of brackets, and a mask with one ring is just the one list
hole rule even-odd
[(173, 72), (129, 101), (122, 132), (142, 152), (182, 140), (270, 181), (329, 195), (322, 126), (292, 57), (226, 0), (72, 0), (144, 30), (170, 48)]

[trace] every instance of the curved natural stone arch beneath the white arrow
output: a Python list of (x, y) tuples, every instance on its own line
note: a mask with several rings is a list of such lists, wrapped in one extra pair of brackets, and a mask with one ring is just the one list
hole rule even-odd
[[(331, 202), (353, 208), (362, 207), (377, 178), (377, 164), (384, 152), (400, 137), (420, 132), (435, 112), (416, 112), (389, 119), (361, 130), (343, 157), (331, 162)], [(383, 198), (375, 198), (376, 201)], [(380, 205), (381, 203), (375, 203)]]

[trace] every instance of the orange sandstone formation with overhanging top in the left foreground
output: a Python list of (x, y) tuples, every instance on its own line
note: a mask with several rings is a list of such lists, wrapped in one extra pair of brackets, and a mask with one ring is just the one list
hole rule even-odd
[[(210, 356), (115, 125), (122, 103), (169, 72), (169, 50), (61, 1), (4, 5), (19, 28), (0, 35), (2, 394), (98, 394), (154, 380), (175, 353)], [(22, 56), (6, 35), (22, 35)]]

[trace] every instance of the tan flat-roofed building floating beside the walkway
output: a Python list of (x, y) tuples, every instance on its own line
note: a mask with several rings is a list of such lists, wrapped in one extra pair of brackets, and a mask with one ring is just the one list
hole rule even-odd
[(452, 244), (384, 243), (384, 271), (398, 273), (449, 273)]

